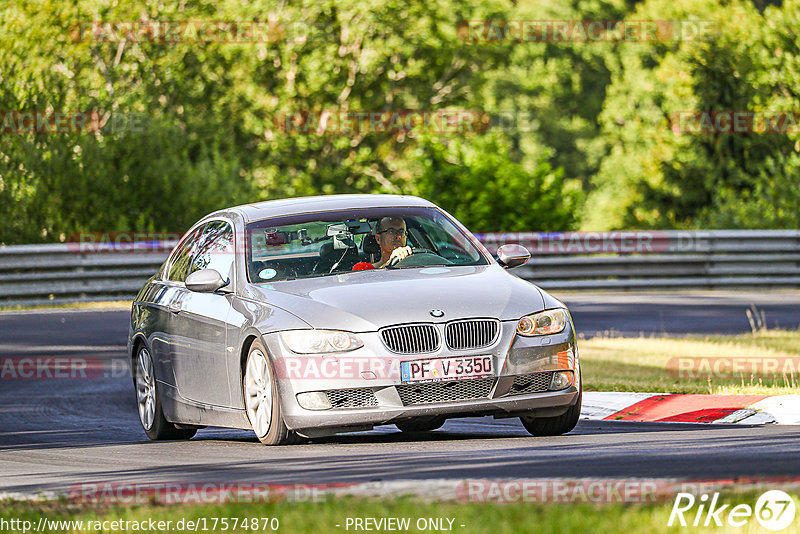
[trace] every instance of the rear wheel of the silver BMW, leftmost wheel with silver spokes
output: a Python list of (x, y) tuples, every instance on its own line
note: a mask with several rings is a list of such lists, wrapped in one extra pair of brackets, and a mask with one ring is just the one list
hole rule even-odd
[[(139, 422), (147, 437), (156, 441), (190, 439), (194, 436), (197, 433), (196, 428), (177, 428), (164, 417), (164, 411), (161, 408), (161, 386), (156, 380), (155, 366), (150, 351), (144, 345), (139, 345), (136, 350), (133, 368)], [(151, 415), (151, 407), (147, 403), (153, 405)]]

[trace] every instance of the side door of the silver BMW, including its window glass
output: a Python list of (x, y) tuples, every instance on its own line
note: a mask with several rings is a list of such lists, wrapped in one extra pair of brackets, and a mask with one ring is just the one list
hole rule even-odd
[[(234, 234), (228, 221), (212, 220), (198, 239), (186, 275), (215, 269), (223, 278), (234, 276)], [(185, 280), (185, 277), (184, 277)], [(230, 293), (198, 293), (186, 289), (175, 313), (176, 336), (173, 361), (181, 396), (216, 406), (231, 406), (228, 385), (226, 331), (231, 313)]]

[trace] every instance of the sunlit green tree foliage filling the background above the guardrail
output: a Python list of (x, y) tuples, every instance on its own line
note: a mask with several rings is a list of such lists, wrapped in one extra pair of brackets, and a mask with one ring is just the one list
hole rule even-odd
[[(0, 133), (0, 243), (182, 231), (231, 204), (352, 192), (427, 196), (476, 231), (800, 225), (800, 134), (673, 132), (679, 111), (798, 110), (796, 0), (11, 0), (0, 17), (0, 111), (91, 111), (110, 125)], [(465, 42), (459, 21), (482, 19), (716, 29)], [(134, 20), (283, 26), (261, 43), (74, 39), (81, 22)], [(523, 120), (439, 137), (281, 129), (303, 110)]]

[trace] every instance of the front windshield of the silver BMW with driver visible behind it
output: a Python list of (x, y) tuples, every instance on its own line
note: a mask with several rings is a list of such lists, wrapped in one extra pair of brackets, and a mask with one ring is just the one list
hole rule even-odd
[[(400, 220), (402, 219), (402, 221)], [(380, 222), (391, 228), (383, 229)], [(487, 265), (471, 235), (434, 208), (385, 208), (295, 215), (247, 225), (247, 272), (253, 283), (314, 278), (372, 267), (381, 258), (379, 233), (403, 237), (412, 254), (397, 269)]]

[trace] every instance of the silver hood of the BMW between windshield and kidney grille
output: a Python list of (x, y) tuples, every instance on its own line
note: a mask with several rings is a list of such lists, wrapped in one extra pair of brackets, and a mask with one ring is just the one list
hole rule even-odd
[[(536, 286), (498, 265), (381, 269), (249, 284), (243, 296), (287, 310), (314, 328), (351, 332), (468, 317), (516, 320), (544, 309)], [(444, 315), (433, 317), (434, 309)]]

